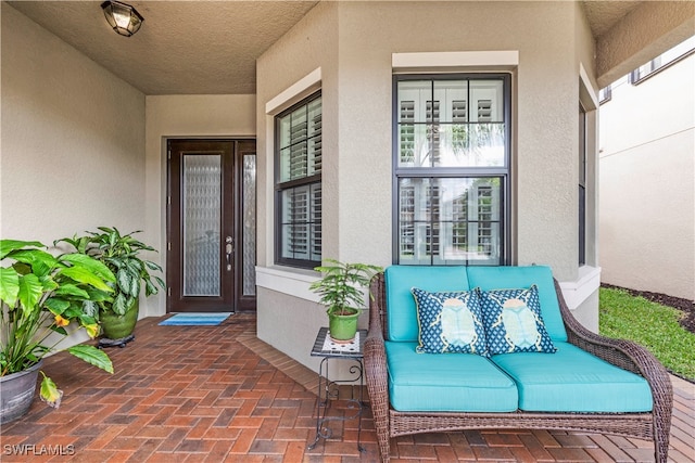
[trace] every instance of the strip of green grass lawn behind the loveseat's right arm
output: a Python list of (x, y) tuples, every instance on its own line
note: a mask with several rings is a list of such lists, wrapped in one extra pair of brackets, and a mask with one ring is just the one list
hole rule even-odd
[(599, 333), (645, 346), (672, 373), (695, 381), (695, 334), (682, 312), (617, 288), (599, 291)]

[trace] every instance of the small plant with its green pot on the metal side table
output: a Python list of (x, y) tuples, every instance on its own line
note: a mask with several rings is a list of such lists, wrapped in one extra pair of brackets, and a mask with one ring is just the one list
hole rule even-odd
[(337, 343), (350, 343), (355, 337), (357, 318), (365, 307), (363, 288), (382, 269), (336, 259), (325, 259), (324, 262), (314, 269), (324, 276), (312, 283), (309, 290), (318, 294), (319, 303), (327, 307), (330, 337)]

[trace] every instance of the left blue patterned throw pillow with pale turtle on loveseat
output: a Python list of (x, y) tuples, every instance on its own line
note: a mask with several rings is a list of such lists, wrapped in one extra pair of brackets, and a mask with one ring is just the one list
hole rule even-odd
[(410, 290), (420, 325), (418, 353), (488, 355), (476, 291), (430, 293)]

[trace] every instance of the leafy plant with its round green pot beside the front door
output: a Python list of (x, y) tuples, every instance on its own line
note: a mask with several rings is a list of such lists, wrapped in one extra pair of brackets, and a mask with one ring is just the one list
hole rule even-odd
[(150, 273), (162, 272), (162, 267), (142, 257), (143, 252), (156, 250), (132, 236), (140, 233), (139, 230), (127, 234), (122, 234), (115, 227), (99, 227), (98, 230), (59, 242), (71, 244), (78, 253), (99, 259), (115, 274), (113, 299), (99, 303), (99, 321), (105, 336), (100, 345), (123, 346), (134, 338), (142, 285), (146, 297), (159, 293), (160, 287), (164, 288), (164, 281)]

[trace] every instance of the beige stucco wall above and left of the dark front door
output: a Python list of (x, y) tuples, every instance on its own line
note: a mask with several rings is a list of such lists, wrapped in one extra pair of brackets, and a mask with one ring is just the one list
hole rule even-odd
[[(255, 95), (149, 95), (146, 98), (146, 227), (166, 258), (166, 139), (254, 138)], [(163, 293), (148, 298), (148, 316), (166, 313)]]

